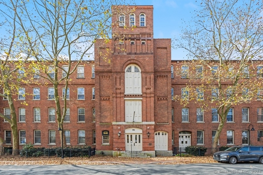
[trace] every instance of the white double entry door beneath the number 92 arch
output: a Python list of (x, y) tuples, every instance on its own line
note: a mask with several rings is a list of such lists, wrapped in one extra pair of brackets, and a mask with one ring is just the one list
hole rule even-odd
[(140, 128), (125, 129), (125, 150), (126, 151), (142, 150), (142, 129)]

